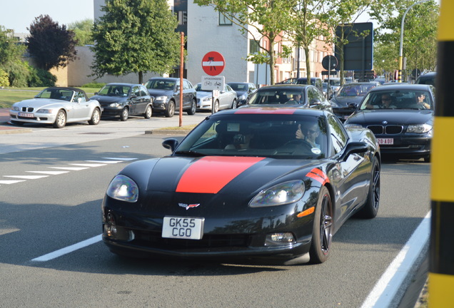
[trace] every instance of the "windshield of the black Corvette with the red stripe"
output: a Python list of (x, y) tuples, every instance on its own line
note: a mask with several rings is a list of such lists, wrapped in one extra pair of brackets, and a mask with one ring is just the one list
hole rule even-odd
[(178, 146), (175, 155), (317, 159), (326, 157), (326, 145), (325, 118), (228, 114), (208, 118), (198, 125)]

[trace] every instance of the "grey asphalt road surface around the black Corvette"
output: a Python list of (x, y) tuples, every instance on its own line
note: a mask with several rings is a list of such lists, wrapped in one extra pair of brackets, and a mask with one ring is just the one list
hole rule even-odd
[(348, 220), (322, 265), (117, 257), (102, 198), (127, 163), (169, 153), (145, 133), (165, 126), (178, 117), (0, 135), (0, 307), (361, 307), (429, 210), (430, 164), (383, 163), (378, 217)]

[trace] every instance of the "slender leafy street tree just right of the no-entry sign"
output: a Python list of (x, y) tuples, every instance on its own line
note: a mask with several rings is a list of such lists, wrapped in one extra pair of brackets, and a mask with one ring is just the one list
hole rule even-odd
[[(276, 43), (283, 41), (283, 34), (291, 27), (296, 0), (194, 0), (199, 6), (212, 6), (226, 19), (240, 27), (244, 35), (251, 35), (261, 52), (250, 54), (248, 61), (268, 63), (274, 72), (276, 56), (288, 56), (291, 49), (282, 45), (276, 51)], [(276, 53), (276, 54), (275, 54)], [(274, 74), (271, 73), (271, 84)]]

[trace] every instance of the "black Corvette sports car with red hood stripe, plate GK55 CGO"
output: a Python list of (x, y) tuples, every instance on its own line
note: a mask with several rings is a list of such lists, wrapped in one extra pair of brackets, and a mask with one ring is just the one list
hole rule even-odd
[(221, 111), (163, 146), (172, 154), (131, 163), (107, 189), (111, 252), (321, 263), (348, 217), (378, 212), (375, 137), (329, 111)]

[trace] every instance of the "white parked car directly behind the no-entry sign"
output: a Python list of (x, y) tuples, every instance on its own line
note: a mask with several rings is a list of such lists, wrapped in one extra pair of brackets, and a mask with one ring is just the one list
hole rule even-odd
[[(197, 83), (197, 109), (211, 111), (213, 106), (213, 91), (202, 90), (202, 84)], [(224, 90), (219, 91), (219, 96), (214, 101), (214, 113), (222, 109), (236, 108), (236, 92), (226, 83)]]

